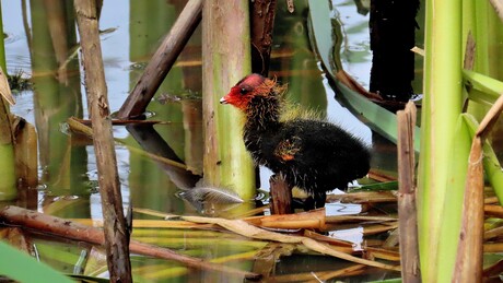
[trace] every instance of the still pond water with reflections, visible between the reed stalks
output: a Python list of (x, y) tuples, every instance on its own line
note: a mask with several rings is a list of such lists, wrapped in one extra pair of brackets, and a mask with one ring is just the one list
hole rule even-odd
[[(375, 137), (372, 131), (354, 118), (346, 108), (334, 99), (336, 95), (329, 86), (307, 35), (306, 7), (296, 3), (296, 10), (290, 14), (281, 2), (277, 15), (274, 46), (271, 60), (271, 74), (281, 82), (289, 83), (290, 98), (306, 108), (316, 109), (330, 120), (343, 126), (355, 135), (361, 137), (374, 149), (383, 152), (383, 157), (374, 158), (373, 167), (394, 172), (396, 158), (394, 146), (389, 142)], [(105, 75), (108, 87), (110, 108), (118, 110), (141, 74), (149, 58), (155, 51), (163, 36), (168, 32), (176, 15), (182, 11), (185, 1), (105, 1), (101, 17), (101, 36)], [(334, 1), (344, 22), (348, 35), (346, 50), (342, 52), (344, 68), (364, 86), (369, 85), (371, 54), (369, 50), (367, 15), (356, 12), (352, 1)], [(22, 70), (33, 78), (34, 90), (16, 95), (17, 104), (12, 111), (24, 117), (36, 126), (39, 139), (39, 186), (31, 188), (28, 197), (17, 203), (30, 209), (52, 215), (74, 219), (102, 219), (101, 200), (97, 193), (97, 170), (92, 142), (70, 135), (66, 129), (66, 120), (71, 116), (87, 117), (85, 92), (82, 85), (83, 72), (79, 68), (78, 52), (72, 52), (78, 44), (72, 13), (66, 13), (61, 31), (51, 32), (48, 19), (55, 19), (55, 8), (44, 5), (44, 1), (27, 3), (27, 17), (23, 19), (21, 2), (5, 1), (2, 3), (4, 31), (9, 38), (5, 49), (9, 73)], [(71, 11), (70, 1), (61, 8)], [(28, 30), (23, 25), (28, 24)], [(70, 24), (69, 24), (70, 23)], [(31, 36), (26, 35), (30, 32)], [(169, 121), (168, 125), (155, 126), (160, 140), (164, 141), (172, 153), (184, 161), (195, 173), (202, 168), (202, 123), (201, 123), (201, 39), (200, 28), (190, 39), (176, 66), (162, 84), (148, 110), (150, 119)], [(27, 39), (30, 38), (30, 40)], [(62, 42), (61, 42), (62, 40)], [(59, 68), (66, 62), (66, 69)], [(222, 94), (223, 95), (223, 94)], [(125, 127), (115, 127), (114, 135), (131, 146), (140, 148), (133, 134)], [(196, 208), (180, 200), (179, 182), (174, 181), (165, 167), (149, 157), (131, 152), (124, 144), (116, 146), (118, 170), (125, 207), (150, 209), (175, 214), (199, 214)], [(377, 156), (379, 156), (377, 154)], [(260, 173), (262, 189), (268, 190), (270, 173)], [(257, 197), (260, 198), (260, 197)], [(360, 212), (360, 205), (330, 203), (327, 213), (350, 214)], [(144, 214), (134, 213), (134, 219), (149, 219)], [(243, 253), (257, 249), (265, 244), (250, 244), (239, 237), (238, 240), (224, 239), (221, 234), (197, 236), (201, 241), (186, 240), (191, 232), (175, 231), (166, 234), (160, 229), (141, 229), (141, 240), (161, 243), (160, 245), (179, 249), (183, 252), (204, 259), (224, 258), (230, 255)], [(351, 227), (346, 231), (334, 231), (334, 237), (343, 237), (360, 245), (362, 228)], [(214, 238), (222, 237), (219, 245)], [(171, 243), (167, 243), (171, 239)], [(77, 261), (85, 258), (87, 262), (97, 260), (101, 269), (90, 272), (100, 275), (105, 272), (103, 258), (87, 255), (100, 255), (94, 248), (80, 247), (63, 243), (50, 244), (40, 239), (38, 249), (47, 256), (51, 266), (66, 272), (72, 272)], [(54, 253), (59, 251), (60, 253)], [(94, 252), (94, 253), (93, 253)], [(85, 255), (83, 255), (85, 253)], [(68, 257), (66, 257), (66, 256)], [(229, 260), (230, 266), (249, 270), (253, 266), (248, 257), (244, 260)], [(307, 263), (306, 263), (307, 262)], [(319, 256), (296, 256), (284, 260), (278, 273), (288, 272), (299, 267), (308, 272), (313, 266), (326, 267), (346, 264), (337, 259)], [(132, 258), (133, 272), (141, 282), (195, 281), (204, 273), (186, 274), (183, 268), (173, 268), (173, 262)], [(100, 266), (100, 263), (98, 263)], [(293, 271), (301, 272), (297, 268)], [(314, 269), (313, 269), (314, 270)], [(290, 270), (289, 272), (292, 272)], [(210, 280), (211, 279), (211, 280)], [(222, 274), (211, 274), (207, 282), (232, 282)]]

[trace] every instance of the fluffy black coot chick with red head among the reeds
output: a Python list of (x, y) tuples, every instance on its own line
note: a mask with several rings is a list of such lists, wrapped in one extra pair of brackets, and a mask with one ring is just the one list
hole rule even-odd
[(326, 192), (346, 189), (370, 169), (369, 149), (338, 126), (314, 118), (280, 119), (285, 86), (249, 74), (220, 99), (246, 114), (244, 141), (254, 161), (283, 174), (290, 187), (325, 205)]

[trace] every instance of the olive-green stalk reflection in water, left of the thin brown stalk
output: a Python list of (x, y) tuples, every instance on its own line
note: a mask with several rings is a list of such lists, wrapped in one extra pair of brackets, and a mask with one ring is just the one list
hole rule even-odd
[[(38, 132), (40, 181), (47, 186), (44, 211), (62, 216), (89, 217), (85, 145), (60, 131), (68, 117), (82, 117), (79, 62), (66, 63), (77, 45), (74, 13), (70, 2), (55, 2), (47, 9), (43, 1), (32, 1), (32, 74), (35, 125)], [(51, 19), (49, 21), (49, 19)], [(81, 196), (61, 210), (50, 196)], [(67, 201), (67, 200), (65, 200)], [(56, 208), (56, 209), (55, 209)]]

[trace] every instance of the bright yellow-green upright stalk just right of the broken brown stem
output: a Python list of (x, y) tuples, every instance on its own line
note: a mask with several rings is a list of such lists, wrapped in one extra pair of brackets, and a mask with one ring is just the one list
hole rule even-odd
[[(418, 174), (421, 271), (436, 282), (456, 120), (461, 111), (461, 1), (426, 1), (424, 102)], [(446, 239), (447, 240), (447, 239)]]

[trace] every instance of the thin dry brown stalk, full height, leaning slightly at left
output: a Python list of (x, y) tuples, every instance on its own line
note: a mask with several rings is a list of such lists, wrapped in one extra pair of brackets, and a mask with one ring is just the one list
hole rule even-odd
[(93, 125), (100, 193), (104, 214), (105, 247), (112, 282), (132, 282), (129, 261), (129, 231), (122, 210), (120, 182), (112, 134), (105, 72), (96, 15), (96, 2), (75, 0), (81, 38), (85, 90)]

